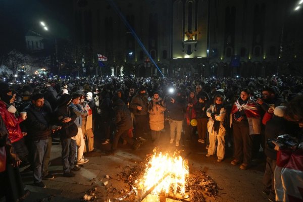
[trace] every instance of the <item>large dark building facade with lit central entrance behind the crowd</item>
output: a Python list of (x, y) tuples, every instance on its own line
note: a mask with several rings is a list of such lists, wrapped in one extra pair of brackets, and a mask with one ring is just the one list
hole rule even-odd
[[(167, 77), (268, 76), (303, 58), (299, 1), (111, 2)], [(161, 75), (108, 1), (75, 1), (74, 19), (76, 42), (91, 45), (95, 62), (105, 55), (115, 75), (125, 64), (136, 76)]]

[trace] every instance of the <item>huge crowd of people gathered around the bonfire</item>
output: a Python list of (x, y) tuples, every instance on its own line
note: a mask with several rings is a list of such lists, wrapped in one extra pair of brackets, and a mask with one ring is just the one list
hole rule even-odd
[[(21, 166), (30, 165), (36, 186), (45, 187), (42, 179), (54, 178), (48, 171), (54, 135), (60, 137), (62, 145), (63, 176), (74, 177), (81, 169), (79, 165), (89, 161), (84, 154), (96, 150), (94, 137), (102, 139), (104, 145), (111, 145), (106, 153), (115, 155), (119, 140), (133, 149), (146, 140), (157, 146), (163, 129), (168, 126), (170, 145), (180, 147), (197, 141), (207, 148), (206, 157), (216, 156), (218, 162), (226, 159), (225, 150), (230, 147), (231, 164), (243, 170), (251, 167), (252, 159), (260, 158), (259, 151), (263, 151), (261, 154), (267, 162), (263, 192), (270, 201), (284, 201), (287, 189), (279, 194), (275, 190), (278, 187), (274, 183), (276, 150), (278, 154), (283, 150), (287, 154), (289, 150), (299, 154), (302, 150), (299, 144), (303, 141), (302, 85), (303, 77), (283, 75), (267, 78), (42, 76), (22, 84), (14, 80), (1, 82), (0, 146), (6, 151), (1, 154), (7, 158), (0, 158), (0, 174), (19, 187), (18, 190), (11, 187), (2, 194), (8, 198), (14, 194), (16, 198), (10, 201), (28, 194), (19, 182), (21, 162)], [(295, 149), (276, 141), (283, 134), (295, 139), (298, 143)], [(15, 174), (6, 174), (8, 170), (14, 170)]]

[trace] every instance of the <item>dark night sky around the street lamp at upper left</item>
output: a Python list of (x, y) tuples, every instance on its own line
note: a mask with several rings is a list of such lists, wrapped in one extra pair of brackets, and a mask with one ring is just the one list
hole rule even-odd
[[(73, 27), (72, 0), (0, 0), (0, 55), (25, 49), (25, 34), (70, 38)], [(49, 31), (40, 26), (45, 22)]]

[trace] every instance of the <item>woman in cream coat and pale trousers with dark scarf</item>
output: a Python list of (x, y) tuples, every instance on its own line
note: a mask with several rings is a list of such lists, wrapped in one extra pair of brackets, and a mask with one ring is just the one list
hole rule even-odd
[(215, 155), (216, 144), (217, 144), (217, 157), (218, 162), (221, 162), (224, 159), (225, 154), (225, 139), (224, 135), (226, 130), (223, 126), (226, 109), (222, 105), (223, 97), (218, 94), (214, 97), (214, 105), (211, 105), (207, 109), (207, 116), (210, 117), (207, 123), (207, 129), (209, 131), (210, 145), (208, 148), (207, 157)]

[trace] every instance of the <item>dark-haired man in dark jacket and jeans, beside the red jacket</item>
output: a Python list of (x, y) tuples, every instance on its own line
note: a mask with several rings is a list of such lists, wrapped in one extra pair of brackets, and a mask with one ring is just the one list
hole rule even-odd
[[(49, 141), (52, 142), (51, 134), (61, 127), (51, 125), (52, 108), (49, 104), (44, 104), (44, 96), (41, 93), (32, 95), (32, 103), (25, 108), (25, 111), (27, 112), (27, 119), (25, 120), (27, 139), (31, 143), (34, 184), (44, 188), (42, 162), (44, 155), (46, 155), (47, 147), (49, 147), (48, 143)], [(44, 177), (54, 179), (54, 176), (48, 173), (48, 169), (47, 173), (44, 171)]]

